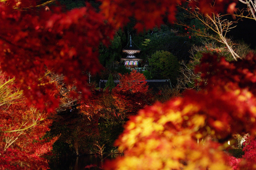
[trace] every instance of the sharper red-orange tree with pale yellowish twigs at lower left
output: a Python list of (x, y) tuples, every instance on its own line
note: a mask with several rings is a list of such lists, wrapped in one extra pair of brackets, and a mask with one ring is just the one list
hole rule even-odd
[(0, 76), (0, 169), (47, 169), (42, 156), (56, 140), (43, 138), (49, 131), (50, 113), (28, 107), (22, 91), (3, 73)]

